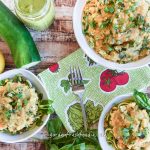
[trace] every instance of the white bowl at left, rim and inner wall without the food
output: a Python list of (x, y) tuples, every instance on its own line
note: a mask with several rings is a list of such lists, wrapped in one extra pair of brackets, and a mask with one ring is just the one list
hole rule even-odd
[[(40, 93), (43, 94), (43, 99), (48, 99), (48, 94), (47, 94), (45, 88), (43, 87), (41, 81), (33, 73), (31, 73), (30, 71), (27, 71), (25, 69), (14, 69), (11, 71), (7, 71), (0, 75), (0, 80), (6, 79), (6, 78), (12, 78), (17, 74), (22, 74), (26, 79), (31, 81), (33, 86)], [(29, 139), (30, 137), (34, 136), (36, 133), (38, 133), (45, 126), (48, 119), (49, 119), (49, 115), (45, 115), (43, 117), (43, 124), (41, 126), (35, 127), (35, 128), (33, 128), (29, 131), (26, 131), (22, 134), (9, 135), (6, 133), (0, 133), (0, 141), (5, 142), (5, 143), (16, 143), (16, 142), (25, 141), (25, 140)]]

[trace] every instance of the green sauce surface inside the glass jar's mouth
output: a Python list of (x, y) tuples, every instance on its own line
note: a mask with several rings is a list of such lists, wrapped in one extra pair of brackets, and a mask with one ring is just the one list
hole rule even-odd
[(19, 9), (25, 14), (35, 14), (45, 5), (46, 0), (18, 0)]

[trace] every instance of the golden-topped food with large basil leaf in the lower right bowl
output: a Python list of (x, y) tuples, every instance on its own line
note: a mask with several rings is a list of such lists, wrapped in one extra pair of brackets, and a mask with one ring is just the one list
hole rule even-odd
[(104, 120), (105, 136), (116, 150), (150, 148), (150, 103), (142, 92), (114, 105)]

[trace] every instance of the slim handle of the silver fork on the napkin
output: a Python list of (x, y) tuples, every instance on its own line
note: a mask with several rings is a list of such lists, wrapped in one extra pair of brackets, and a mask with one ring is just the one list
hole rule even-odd
[(80, 105), (81, 105), (81, 109), (82, 109), (84, 129), (85, 129), (85, 131), (87, 131), (87, 115), (86, 115), (85, 107), (84, 107), (83, 100), (82, 100), (83, 93), (78, 94), (78, 97), (80, 98)]

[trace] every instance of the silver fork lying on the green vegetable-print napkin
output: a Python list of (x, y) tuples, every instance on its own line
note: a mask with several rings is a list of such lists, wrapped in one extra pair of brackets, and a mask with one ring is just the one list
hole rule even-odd
[(80, 98), (84, 129), (85, 131), (87, 131), (87, 116), (86, 116), (85, 107), (84, 107), (83, 100), (82, 100), (82, 96), (83, 96), (83, 92), (85, 88), (84, 88), (83, 78), (82, 78), (80, 68), (70, 67), (70, 75), (71, 75), (72, 91), (75, 95), (77, 95)]

